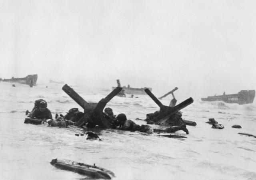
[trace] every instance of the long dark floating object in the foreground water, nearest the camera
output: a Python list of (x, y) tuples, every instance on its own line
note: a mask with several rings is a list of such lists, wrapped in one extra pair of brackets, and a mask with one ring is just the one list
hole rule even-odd
[(56, 168), (83, 174), (92, 179), (112, 179), (115, 177), (113, 172), (97, 167), (95, 164), (91, 166), (66, 159), (53, 159), (50, 163)]

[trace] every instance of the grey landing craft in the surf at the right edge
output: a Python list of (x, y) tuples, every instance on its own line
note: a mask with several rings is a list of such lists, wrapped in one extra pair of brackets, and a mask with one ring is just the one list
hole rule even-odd
[(253, 103), (255, 90), (242, 90), (238, 94), (226, 95), (225, 92), (220, 96), (208, 96), (202, 101), (224, 101), (225, 103), (237, 103), (240, 105)]

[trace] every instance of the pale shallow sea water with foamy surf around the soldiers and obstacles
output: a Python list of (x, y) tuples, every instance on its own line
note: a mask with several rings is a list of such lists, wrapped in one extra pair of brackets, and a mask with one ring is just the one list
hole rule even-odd
[[(32, 88), (15, 85), (0, 82), (1, 180), (85, 178), (55, 168), (50, 164), (55, 158), (95, 164), (114, 172), (116, 180), (256, 180), (256, 138), (238, 134), (256, 135), (255, 104), (194, 99), (194, 103), (182, 109), (182, 117), (195, 121), (196, 127), (187, 126), (189, 135), (184, 131), (174, 133), (187, 138), (94, 129), (102, 141), (93, 141), (75, 136), (76, 133), (85, 133), (77, 127), (61, 129), (46, 124), (24, 124), (25, 111), (31, 111), (37, 99), (47, 101), (53, 117), (56, 113), (66, 115), (73, 107), (83, 111), (62, 91), (64, 84), (39, 84)], [(111, 87), (90, 89), (72, 85), (72, 88), (87, 102), (94, 103), (111, 92)], [(182, 101), (178, 99), (178, 103)], [(170, 99), (161, 102), (168, 105)], [(106, 107), (112, 108), (115, 115), (125, 113), (128, 119), (139, 125), (146, 123), (136, 118), (145, 119), (147, 113), (159, 110), (148, 95), (114, 97)], [(225, 128), (212, 129), (206, 123), (209, 118), (214, 118)], [(242, 129), (232, 128), (236, 124)]]

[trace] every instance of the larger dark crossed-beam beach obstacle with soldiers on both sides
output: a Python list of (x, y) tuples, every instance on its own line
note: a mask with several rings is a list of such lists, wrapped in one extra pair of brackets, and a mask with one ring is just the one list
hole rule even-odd
[(84, 116), (76, 123), (77, 127), (82, 127), (86, 123), (88, 127), (94, 127), (96, 125), (104, 128), (114, 127), (115, 120), (110, 116), (103, 113), (106, 104), (116, 96), (120, 91), (121, 87), (116, 87), (109, 95), (101, 99), (98, 103), (86, 102), (74, 89), (65, 84), (62, 90), (67, 93), (78, 105), (84, 109)]

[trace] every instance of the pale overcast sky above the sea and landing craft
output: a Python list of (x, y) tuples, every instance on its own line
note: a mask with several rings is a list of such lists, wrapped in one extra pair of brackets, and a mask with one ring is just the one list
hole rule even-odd
[(0, 77), (207, 97), (256, 89), (255, 0), (0, 0)]

